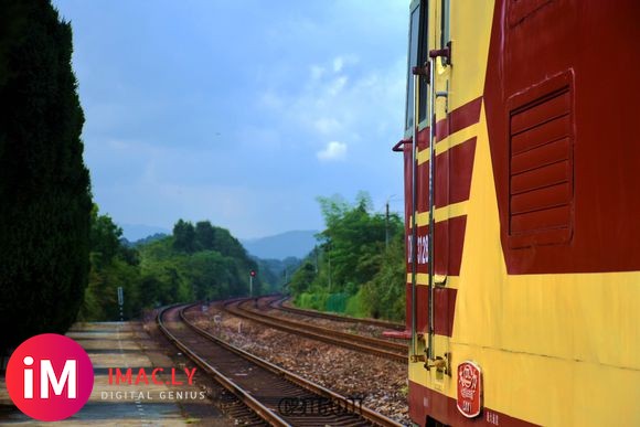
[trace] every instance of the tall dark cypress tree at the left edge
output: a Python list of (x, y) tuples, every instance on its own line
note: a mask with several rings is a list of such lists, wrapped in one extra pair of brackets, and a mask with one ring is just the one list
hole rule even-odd
[(49, 0), (0, 0), (0, 354), (75, 320), (92, 198), (72, 29)]

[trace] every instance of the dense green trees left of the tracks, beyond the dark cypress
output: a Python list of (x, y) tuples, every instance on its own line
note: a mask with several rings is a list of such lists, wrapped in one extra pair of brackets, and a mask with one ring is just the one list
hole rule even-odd
[[(171, 236), (135, 246), (121, 239), (110, 217), (94, 212), (90, 284), (82, 310), (85, 320), (117, 320), (117, 289), (125, 295), (125, 318), (145, 308), (173, 302), (214, 300), (249, 293), (249, 271), (259, 271), (227, 229), (209, 221), (193, 225), (179, 220)], [(253, 293), (266, 289), (258, 274)]]

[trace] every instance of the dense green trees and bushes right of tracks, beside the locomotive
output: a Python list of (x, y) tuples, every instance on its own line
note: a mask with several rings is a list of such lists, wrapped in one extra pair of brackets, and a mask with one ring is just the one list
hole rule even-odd
[(360, 194), (354, 205), (319, 198), (327, 228), (320, 247), (289, 284), (296, 302), (319, 310), (401, 320), (404, 317), (404, 234), (397, 214), (371, 212)]

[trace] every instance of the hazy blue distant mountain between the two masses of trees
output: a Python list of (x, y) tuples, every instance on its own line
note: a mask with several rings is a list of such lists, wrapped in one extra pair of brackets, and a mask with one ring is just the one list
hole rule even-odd
[(314, 231), (297, 231), (241, 241), (247, 252), (263, 259), (303, 258), (316, 246)]

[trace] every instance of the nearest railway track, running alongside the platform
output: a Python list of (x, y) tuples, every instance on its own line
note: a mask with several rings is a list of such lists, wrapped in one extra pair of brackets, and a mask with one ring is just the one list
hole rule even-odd
[(163, 309), (162, 333), (235, 399), (228, 402), (241, 423), (273, 426), (401, 426), (356, 399), (343, 397), (263, 359), (227, 344), (189, 322), (193, 306)]

